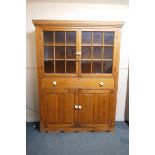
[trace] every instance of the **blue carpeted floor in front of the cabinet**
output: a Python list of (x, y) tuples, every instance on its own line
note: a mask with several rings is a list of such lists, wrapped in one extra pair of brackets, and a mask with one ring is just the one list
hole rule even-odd
[(41, 133), (38, 123), (27, 123), (26, 151), (27, 155), (128, 155), (129, 126), (116, 122), (114, 133)]

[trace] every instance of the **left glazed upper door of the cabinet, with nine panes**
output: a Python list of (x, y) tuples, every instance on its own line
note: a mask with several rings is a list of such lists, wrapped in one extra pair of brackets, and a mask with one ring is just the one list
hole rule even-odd
[(43, 31), (43, 75), (76, 76), (77, 30), (52, 29)]

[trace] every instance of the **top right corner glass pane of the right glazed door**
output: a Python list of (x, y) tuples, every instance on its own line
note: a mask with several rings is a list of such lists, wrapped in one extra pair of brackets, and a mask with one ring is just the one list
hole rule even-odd
[(114, 32), (104, 32), (104, 44), (114, 44)]

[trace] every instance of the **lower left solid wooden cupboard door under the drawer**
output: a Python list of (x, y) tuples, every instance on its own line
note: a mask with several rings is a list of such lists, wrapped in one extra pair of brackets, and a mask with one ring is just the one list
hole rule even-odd
[(74, 93), (50, 93), (43, 95), (46, 126), (74, 124)]

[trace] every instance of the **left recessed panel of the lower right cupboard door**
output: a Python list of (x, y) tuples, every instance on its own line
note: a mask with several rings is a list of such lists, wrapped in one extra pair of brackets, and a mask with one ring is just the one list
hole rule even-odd
[(78, 124), (93, 124), (93, 95), (79, 93), (79, 121)]

